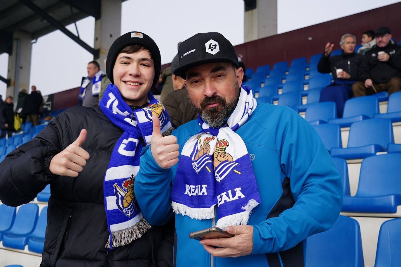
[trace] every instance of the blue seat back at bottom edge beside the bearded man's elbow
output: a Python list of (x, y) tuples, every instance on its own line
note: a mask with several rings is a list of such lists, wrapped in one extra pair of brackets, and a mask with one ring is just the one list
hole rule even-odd
[(332, 228), (308, 237), (305, 263), (306, 267), (364, 267), (358, 222), (340, 215)]

